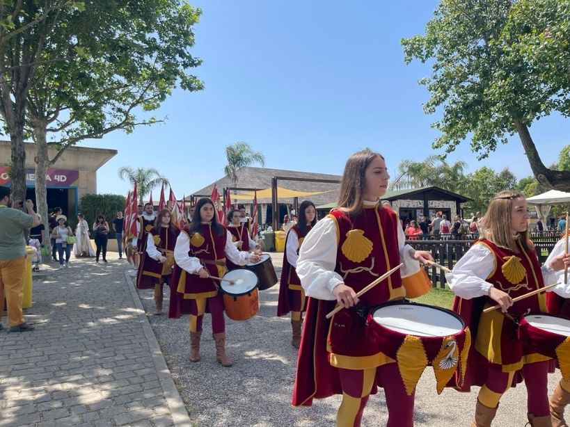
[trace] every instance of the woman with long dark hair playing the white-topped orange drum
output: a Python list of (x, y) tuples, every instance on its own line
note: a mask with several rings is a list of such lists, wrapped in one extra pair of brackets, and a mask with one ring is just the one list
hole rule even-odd
[[(232, 234), (218, 222), (214, 202), (209, 198), (198, 200), (192, 222), (182, 229), (176, 240), (174, 259), (176, 265), (171, 280), (181, 302), (171, 309), (169, 316), (180, 317), (190, 314), (190, 360), (200, 360), (200, 337), (202, 320), (206, 309), (212, 314), (212, 332), (216, 343), (216, 360), (223, 366), (232, 366), (225, 354), (225, 320), (223, 298), (214, 277), (223, 277), (227, 271), (225, 259), (244, 265), (248, 261), (258, 262), (258, 255), (239, 251), (232, 243)], [(174, 300), (176, 303), (176, 300)]]

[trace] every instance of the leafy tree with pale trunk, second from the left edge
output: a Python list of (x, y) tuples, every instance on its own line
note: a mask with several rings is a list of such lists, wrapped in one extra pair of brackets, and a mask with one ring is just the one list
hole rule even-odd
[[(54, 61), (38, 66), (27, 97), (36, 200), (45, 218), (46, 171), (67, 147), (157, 123), (136, 115), (159, 108), (176, 86), (203, 88), (188, 74), (201, 63), (189, 51), (199, 9), (180, 0), (86, 0), (84, 6), (62, 12), (62, 24), (43, 51)], [(57, 149), (51, 158), (49, 146)]]

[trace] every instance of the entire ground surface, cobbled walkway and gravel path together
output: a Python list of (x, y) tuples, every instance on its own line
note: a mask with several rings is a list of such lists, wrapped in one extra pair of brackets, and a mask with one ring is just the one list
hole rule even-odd
[[(278, 274), (280, 255), (272, 254)], [(312, 408), (290, 405), (296, 350), (289, 319), (275, 315), (278, 286), (260, 292), (253, 319), (227, 321), (234, 366), (224, 368), (215, 361), (209, 315), (202, 360), (192, 363), (187, 317), (152, 316), (152, 291), (137, 296), (127, 263), (109, 260), (72, 259), (69, 269), (48, 271), (34, 283), (34, 305), (25, 312), (35, 331), (0, 332), (0, 427), (334, 425), (339, 396)], [(559, 378), (549, 376), (550, 390)], [(468, 426), (476, 393), (446, 389), (438, 396), (428, 368), (416, 392), (415, 425)], [(502, 398), (493, 426), (524, 426), (525, 408), (520, 385)], [(363, 426), (386, 421), (380, 390)]]

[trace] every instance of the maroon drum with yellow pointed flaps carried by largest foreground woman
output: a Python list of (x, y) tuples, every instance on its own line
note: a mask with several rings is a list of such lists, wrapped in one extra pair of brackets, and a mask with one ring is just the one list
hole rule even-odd
[(408, 394), (427, 365), (434, 367), (438, 394), (458, 368), (464, 377), (471, 337), (454, 312), (396, 302), (372, 309), (367, 321), (379, 350), (396, 360)]

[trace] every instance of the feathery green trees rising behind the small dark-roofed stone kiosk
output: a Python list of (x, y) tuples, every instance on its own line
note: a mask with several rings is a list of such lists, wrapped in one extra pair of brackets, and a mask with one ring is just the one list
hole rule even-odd
[(450, 165), (441, 155), (428, 156), (423, 161), (404, 160), (398, 165), (398, 176), (390, 189), (438, 186), (448, 191), (461, 191), (467, 163), (456, 161)]

